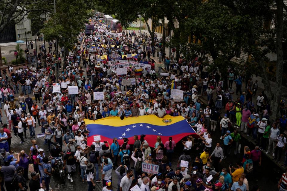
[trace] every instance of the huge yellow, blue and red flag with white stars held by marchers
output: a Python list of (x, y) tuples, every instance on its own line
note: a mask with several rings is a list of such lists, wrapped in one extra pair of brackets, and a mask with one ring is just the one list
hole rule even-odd
[(165, 143), (169, 137), (177, 143), (188, 135), (196, 135), (196, 132), (182, 117), (158, 118), (155, 115), (144, 115), (139, 117), (129, 117), (123, 120), (120, 117), (107, 117), (96, 121), (85, 119), (87, 128), (90, 131), (88, 145), (94, 141), (94, 135), (101, 135), (101, 142), (109, 141), (112, 144), (113, 138), (117, 138), (119, 144), (123, 143), (123, 138), (129, 139), (129, 144), (133, 144), (133, 136), (146, 135), (145, 140), (150, 147), (154, 147), (156, 137), (161, 136), (161, 141)]

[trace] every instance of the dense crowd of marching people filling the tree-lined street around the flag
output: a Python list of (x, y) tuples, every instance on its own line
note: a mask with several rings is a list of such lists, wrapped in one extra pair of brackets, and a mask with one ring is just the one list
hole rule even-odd
[[(245, 76), (230, 70), (229, 83), (223, 84), (218, 72), (204, 71), (201, 57), (190, 61), (179, 57), (177, 61), (174, 57), (176, 50), (172, 49), (171, 55), (165, 56), (162, 39), (156, 36), (155, 44), (152, 44), (152, 39), (145, 33), (136, 35), (134, 31), (123, 31), (120, 36), (114, 33), (108, 24), (95, 20), (91, 35), (81, 33), (72, 54), (64, 58), (62, 72), (57, 74), (58, 81), (55, 76), (56, 53), (51, 52), (52, 48), (49, 53), (45, 53), (45, 49), (39, 50), (38, 67), (32, 64), (13, 68), (11, 65), (8, 74), (3, 70), (4, 78), (0, 78), (5, 114), (0, 110), (3, 125), (0, 129), (1, 190), (4, 190), (4, 184), (8, 191), (28, 188), (29, 164), (34, 168), (30, 174), (30, 190), (42, 189), (43, 185), (46, 190), (51, 190), (49, 184), (55, 160), (63, 155), (63, 170), (67, 172), (68, 180), (73, 182), (75, 172), (79, 172), (82, 181), (88, 183), (89, 191), (97, 183), (102, 184), (103, 191), (113, 190), (112, 181), (117, 182), (119, 191), (129, 191), (136, 185), (141, 191), (258, 191), (259, 186), (248, 187), (247, 178), (253, 173), (256, 179), (261, 151), (272, 152), (274, 160), (279, 162), (286, 146), (284, 101), (280, 103), (282, 118), (271, 124), (268, 119), (272, 110), (268, 98), (262, 92), (255, 102), (253, 97), (258, 82), (253, 83), (252, 78), (244, 78), (247, 82), (245, 97), (241, 87)], [(92, 46), (97, 48), (91, 52)], [(129, 66), (127, 75), (117, 75), (117, 69), (111, 68), (112, 64), (119, 63), (110, 57), (115, 54), (124, 56), (123, 60), (138, 62), (140, 67)], [(127, 58), (128, 54), (137, 56)], [(161, 68), (155, 72), (153, 58), (156, 57), (164, 62), (168, 76), (160, 75)], [(150, 67), (144, 67), (144, 64)], [(123, 79), (129, 78), (135, 79), (134, 85), (121, 85)], [(66, 87), (53, 93), (53, 83), (64, 82), (68, 86), (77, 86), (78, 95), (69, 95)], [(183, 98), (173, 99), (172, 89), (184, 91)], [(103, 92), (104, 99), (94, 100), (94, 92)], [(18, 93), (16, 102), (14, 99)], [(32, 93), (35, 101), (30, 97)], [(236, 96), (238, 93), (240, 95)], [(124, 120), (141, 115), (183, 116), (195, 130), (198, 136), (188, 136), (182, 141), (183, 153), (176, 160), (177, 165), (172, 165), (177, 146), (172, 137), (163, 143), (158, 136), (155, 145), (149, 145), (145, 135), (135, 135), (133, 145), (129, 145), (127, 138), (123, 138), (121, 145), (117, 138), (112, 143), (95, 141), (87, 145), (89, 129), (84, 119), (118, 116)], [(231, 128), (232, 124), (235, 130)], [(35, 134), (38, 126), (42, 131), (40, 138)], [(212, 141), (219, 128), (221, 141)], [(245, 146), (244, 154), (239, 154), (239, 132), (252, 136), (258, 146), (254, 150)], [(29, 153), (22, 150), (17, 157), (13, 156), (12, 134), (15, 138), (19, 136), (19, 144), (31, 141)], [(47, 145), (49, 155), (38, 147), (37, 141)], [(13, 148), (17, 146), (12, 145)], [(221, 162), (232, 155), (231, 151), (236, 158), (243, 158), (236, 164), (223, 167)], [(188, 161), (188, 167), (180, 165), (182, 160)], [(143, 172), (143, 162), (158, 165), (158, 174)], [(287, 160), (284, 165), (287, 166)], [(112, 172), (117, 174), (118, 180), (112, 180)], [(278, 187), (286, 189), (285, 174)]]

